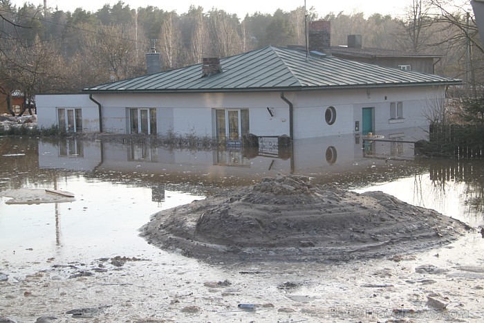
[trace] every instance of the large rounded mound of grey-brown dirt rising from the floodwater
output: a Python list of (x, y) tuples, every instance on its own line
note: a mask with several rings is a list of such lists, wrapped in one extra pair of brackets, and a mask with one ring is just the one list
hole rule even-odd
[(326, 261), (404, 254), (449, 243), (466, 230), (382, 192), (358, 194), (279, 174), (158, 212), (141, 234), (198, 259)]

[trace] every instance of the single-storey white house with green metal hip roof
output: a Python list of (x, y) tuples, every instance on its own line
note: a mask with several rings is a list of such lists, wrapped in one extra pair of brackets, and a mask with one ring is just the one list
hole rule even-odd
[(426, 127), (426, 111), (443, 105), (447, 86), (460, 84), (272, 46), (203, 63), (77, 94), (37, 95), (39, 126), (229, 140), (398, 133)]

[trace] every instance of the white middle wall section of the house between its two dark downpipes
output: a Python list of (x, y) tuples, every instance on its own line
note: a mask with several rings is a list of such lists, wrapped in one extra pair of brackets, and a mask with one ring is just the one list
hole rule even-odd
[[(250, 108), (250, 131), (258, 136), (289, 134), (288, 105), (280, 93), (93, 95), (103, 107), (104, 129), (126, 133), (127, 108), (156, 108), (158, 133), (214, 136), (213, 109)], [(267, 108), (272, 108), (271, 117)]]

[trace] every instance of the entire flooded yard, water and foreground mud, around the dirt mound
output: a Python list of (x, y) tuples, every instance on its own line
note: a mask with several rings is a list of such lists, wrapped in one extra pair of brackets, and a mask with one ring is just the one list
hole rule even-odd
[[(335, 137), (295, 142), (292, 151), (189, 151), (0, 138), (0, 318), (481, 322), (484, 164), (414, 160), (411, 147), (381, 145)], [(279, 173), (382, 191), (475, 230), (448, 245), (382, 259), (230, 264), (184, 257), (139, 236), (156, 212)], [(75, 200), (12, 203), (4, 196), (20, 189), (63, 190)]]

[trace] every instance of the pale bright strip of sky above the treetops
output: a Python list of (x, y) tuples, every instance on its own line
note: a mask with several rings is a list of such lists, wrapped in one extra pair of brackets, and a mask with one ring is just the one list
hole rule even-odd
[[(35, 6), (43, 5), (44, 0), (13, 0), (12, 3), (18, 6), (22, 6), (25, 2), (33, 3)], [(245, 17), (246, 14), (252, 15), (254, 12), (261, 13), (274, 13), (277, 8), (281, 8), (284, 11), (294, 10), (299, 6), (304, 6), (304, 0), (171, 0), (171, 1), (156, 1), (156, 0), (124, 0), (124, 4), (129, 5), (130, 8), (139, 8), (153, 6), (162, 10), (175, 10), (178, 14), (182, 14), (188, 11), (190, 5), (201, 6), (205, 11), (212, 8), (219, 10), (225, 10), (229, 13), (236, 13), (240, 18)], [(404, 12), (405, 8), (411, 4), (412, 0), (306, 0), (306, 8), (314, 7), (319, 17), (324, 17), (329, 12), (334, 12), (336, 15), (339, 12), (345, 14), (351, 14), (354, 12), (364, 12), (366, 16), (372, 15), (378, 12), (382, 15), (392, 15), (397, 17)], [(83, 8), (86, 11), (96, 12), (105, 3), (109, 3), (113, 6), (118, 3), (118, 0), (47, 0), (47, 6), (49, 8), (63, 11), (74, 11), (76, 8)]]

